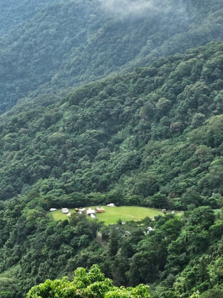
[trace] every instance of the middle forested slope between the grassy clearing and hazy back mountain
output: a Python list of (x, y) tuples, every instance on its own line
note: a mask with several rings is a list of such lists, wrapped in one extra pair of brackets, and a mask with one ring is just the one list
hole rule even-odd
[(222, 46), (210, 43), (84, 85), (56, 104), (45, 95), (3, 114), (1, 199), (36, 190), (60, 205), (75, 192), (100, 192), (122, 204), (220, 206)]

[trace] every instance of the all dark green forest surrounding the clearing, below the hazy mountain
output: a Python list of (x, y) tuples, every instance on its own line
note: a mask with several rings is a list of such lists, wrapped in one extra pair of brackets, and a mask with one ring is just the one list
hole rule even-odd
[[(211, 42), (1, 115), (0, 297), (97, 263), (152, 298), (222, 298), (222, 52)], [(111, 201), (184, 213), (105, 226), (48, 212)]]

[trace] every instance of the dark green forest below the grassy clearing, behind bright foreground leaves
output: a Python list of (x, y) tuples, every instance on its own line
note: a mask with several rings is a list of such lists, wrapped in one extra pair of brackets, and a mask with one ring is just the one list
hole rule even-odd
[[(123, 225), (120, 219), (103, 226), (76, 214), (56, 222), (44, 211), (45, 204), (37, 193), (2, 204), (1, 298), (26, 297), (32, 286), (48, 278), (68, 275), (62, 278), (67, 283), (77, 267), (95, 263), (116, 286), (149, 284), (153, 298), (222, 298), (222, 209), (214, 213), (201, 206), (181, 217), (169, 213), (155, 221)], [(147, 226), (154, 231), (147, 234)], [(41, 285), (27, 297), (50, 290), (46, 281), (45, 288)], [(56, 293), (40, 297), (55, 298)], [(69, 296), (64, 292), (62, 297)]]

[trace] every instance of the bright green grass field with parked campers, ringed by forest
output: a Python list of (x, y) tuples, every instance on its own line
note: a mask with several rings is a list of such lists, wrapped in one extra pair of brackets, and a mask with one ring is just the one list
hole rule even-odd
[[(95, 206), (85, 207), (95, 209)], [(104, 221), (105, 224), (115, 224), (119, 218), (122, 221), (139, 221), (140, 219), (149, 216), (153, 218), (156, 215), (163, 215), (163, 212), (158, 209), (146, 208), (146, 207), (137, 207), (137, 206), (120, 206), (120, 207), (104, 207), (105, 212), (95, 213), (95, 218), (98, 218), (100, 221)], [(74, 212), (74, 208), (70, 208), (69, 212)], [(67, 218), (66, 214), (62, 214), (58, 209), (51, 212), (55, 220), (63, 220)], [(90, 216), (87, 216), (89, 220), (94, 220)]]

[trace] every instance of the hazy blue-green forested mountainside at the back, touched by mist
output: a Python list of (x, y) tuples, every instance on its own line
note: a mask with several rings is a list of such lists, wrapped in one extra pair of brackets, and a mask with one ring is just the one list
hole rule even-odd
[[(56, 93), (158, 57), (222, 40), (220, 0), (29, 1), (23, 23), (0, 40), (0, 111), (29, 94)], [(26, 1), (3, 3), (18, 20)], [(11, 6), (16, 9), (12, 12)], [(27, 4), (28, 5), (28, 4)], [(30, 9), (29, 9), (30, 8)], [(16, 12), (18, 15), (16, 16)], [(33, 17), (29, 20), (26, 18)]]

